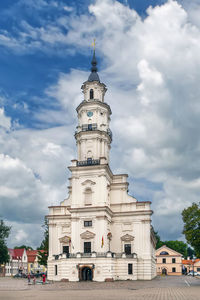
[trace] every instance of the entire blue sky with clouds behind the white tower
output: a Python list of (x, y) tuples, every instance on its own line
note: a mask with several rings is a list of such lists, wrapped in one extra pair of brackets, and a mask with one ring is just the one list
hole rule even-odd
[[(90, 73), (111, 106), (113, 173), (152, 201), (162, 240), (184, 240), (200, 194), (200, 1), (0, 1), (0, 218), (9, 247), (36, 248), (67, 198), (76, 107)], [(120, 157), (120, 160), (119, 160)]]

